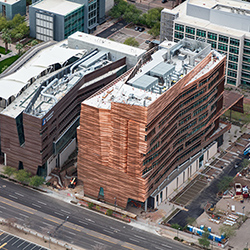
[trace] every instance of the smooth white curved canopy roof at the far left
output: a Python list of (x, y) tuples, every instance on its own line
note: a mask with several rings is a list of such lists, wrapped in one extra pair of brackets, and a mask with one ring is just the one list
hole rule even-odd
[(66, 41), (57, 43), (43, 49), (35, 54), (32, 59), (25, 63), (15, 73), (0, 79), (0, 97), (7, 100), (9, 97), (19, 93), (28, 84), (32, 77), (37, 77), (41, 72), (55, 63), (62, 64), (72, 56), (85, 54), (84, 50), (74, 50), (67, 48)]

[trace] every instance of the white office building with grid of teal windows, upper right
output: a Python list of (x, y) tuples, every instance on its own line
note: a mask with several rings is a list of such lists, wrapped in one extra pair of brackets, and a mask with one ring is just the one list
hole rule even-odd
[(161, 41), (206, 41), (227, 56), (226, 84), (250, 86), (250, 3), (187, 0), (161, 14)]

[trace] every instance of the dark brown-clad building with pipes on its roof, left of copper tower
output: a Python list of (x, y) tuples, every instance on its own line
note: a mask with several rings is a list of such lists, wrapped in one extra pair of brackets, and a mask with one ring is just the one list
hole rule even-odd
[[(22, 67), (15, 77), (9, 75), (0, 81), (5, 90), (1, 92), (5, 100), (2, 104), (7, 105), (13, 96), (0, 113), (5, 165), (46, 176), (53, 168), (61, 167), (75, 150), (81, 102), (127, 70), (126, 53), (109, 50), (119, 44), (99, 38), (100, 46), (87, 46), (95, 38), (77, 32), (70, 41), (54, 45), (53, 51), (45, 49), (34, 55), (31, 66)], [(86, 39), (86, 46), (75, 49), (76, 39)], [(140, 49), (131, 51), (127, 45), (122, 45), (122, 50), (131, 52), (130, 59), (134, 53), (135, 63), (145, 53)], [(54, 63), (41, 72), (41, 65), (48, 62)], [(23, 86), (29, 71), (39, 72), (39, 77)], [(13, 93), (18, 93), (15, 98)]]

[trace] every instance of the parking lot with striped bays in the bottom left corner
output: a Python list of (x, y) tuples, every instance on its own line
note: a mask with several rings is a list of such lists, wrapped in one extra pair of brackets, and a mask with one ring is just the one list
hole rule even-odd
[(0, 248), (4, 250), (48, 250), (40, 245), (0, 230)]

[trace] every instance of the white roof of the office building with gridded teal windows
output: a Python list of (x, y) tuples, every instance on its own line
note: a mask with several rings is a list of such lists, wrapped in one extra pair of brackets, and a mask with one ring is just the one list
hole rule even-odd
[[(215, 14), (214, 12), (210, 13), (208, 17), (204, 15), (203, 18), (198, 17), (200, 15), (199, 13), (197, 13), (199, 12), (199, 10), (193, 9), (192, 11), (190, 10), (190, 12), (193, 12), (194, 15), (188, 15), (187, 8), (189, 7), (189, 9), (191, 9), (192, 7), (190, 6), (197, 6), (203, 9), (217, 11), (217, 14), (223, 13), (223, 21), (226, 20), (226, 24), (220, 24), (218, 20), (216, 20), (215, 15), (217, 14)], [(182, 23), (185, 25), (202, 27), (206, 28), (207, 30), (216, 31), (219, 34), (226, 34), (233, 37), (241, 37), (243, 35), (247, 35), (248, 37), (250, 36), (250, 3), (246, 1), (189, 0), (183, 2), (172, 10), (164, 9), (163, 12), (173, 14), (179, 13), (179, 16), (176, 20), (178, 21), (178, 23)], [(222, 16), (220, 16), (219, 18), (221, 17)], [(235, 28), (236, 23), (238, 28)]]

